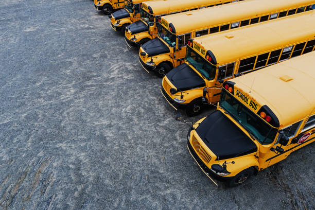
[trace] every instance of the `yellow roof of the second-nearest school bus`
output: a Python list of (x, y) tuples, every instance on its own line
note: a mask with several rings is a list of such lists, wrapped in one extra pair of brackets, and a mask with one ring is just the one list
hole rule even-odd
[(314, 39), (315, 10), (281, 17), (263, 23), (208, 34), (194, 38), (194, 42), (211, 50), (217, 64), (291, 46), (292, 43)]

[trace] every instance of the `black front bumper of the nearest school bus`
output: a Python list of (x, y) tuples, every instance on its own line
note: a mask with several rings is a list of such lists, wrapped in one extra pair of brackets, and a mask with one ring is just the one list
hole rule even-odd
[[(199, 167), (201, 168), (201, 170), (206, 174), (206, 176), (208, 178), (210, 178), (217, 186), (218, 184), (213, 180), (219, 180), (221, 182), (228, 182), (230, 180), (233, 179), (233, 177), (221, 177), (218, 174), (212, 172), (212, 170), (210, 170), (199, 158), (198, 154), (196, 154), (195, 150), (193, 149), (193, 147), (190, 145), (189, 140), (187, 141), (187, 148), (189, 153), (191, 154), (191, 156), (193, 156), (193, 158), (195, 159), (196, 163), (199, 165)], [(213, 178), (213, 179), (212, 179)]]

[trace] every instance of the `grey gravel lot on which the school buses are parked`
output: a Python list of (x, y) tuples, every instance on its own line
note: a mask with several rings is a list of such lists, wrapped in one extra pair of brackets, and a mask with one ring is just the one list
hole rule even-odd
[(315, 208), (314, 144), (237, 188), (207, 179), (161, 79), (92, 1), (0, 13), (1, 209)]

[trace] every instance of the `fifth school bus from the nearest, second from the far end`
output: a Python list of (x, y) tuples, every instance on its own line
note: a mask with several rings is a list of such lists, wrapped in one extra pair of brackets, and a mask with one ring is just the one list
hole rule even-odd
[(145, 2), (145, 0), (125, 0), (125, 9), (120, 9), (109, 15), (112, 28), (125, 35), (125, 28), (140, 19), (140, 6), (142, 2)]

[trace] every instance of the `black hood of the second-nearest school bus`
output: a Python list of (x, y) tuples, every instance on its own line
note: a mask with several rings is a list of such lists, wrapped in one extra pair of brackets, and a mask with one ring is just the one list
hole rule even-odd
[(177, 91), (187, 91), (205, 86), (204, 80), (186, 63), (173, 68), (166, 74), (166, 77), (176, 86)]

